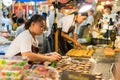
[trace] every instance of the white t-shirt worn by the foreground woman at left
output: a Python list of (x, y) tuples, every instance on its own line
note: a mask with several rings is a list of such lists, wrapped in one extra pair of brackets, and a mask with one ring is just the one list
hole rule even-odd
[(25, 30), (13, 40), (5, 54), (5, 57), (9, 58), (15, 56), (19, 52), (23, 53), (32, 51), (32, 45), (38, 47), (38, 41), (33, 39), (29, 30)]

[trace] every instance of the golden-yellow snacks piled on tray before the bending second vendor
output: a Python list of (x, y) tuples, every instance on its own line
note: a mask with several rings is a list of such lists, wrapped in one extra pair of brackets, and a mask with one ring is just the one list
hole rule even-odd
[(91, 57), (93, 53), (94, 53), (94, 50), (92, 48), (89, 50), (71, 49), (70, 51), (67, 52), (66, 55), (75, 56), (75, 57)]

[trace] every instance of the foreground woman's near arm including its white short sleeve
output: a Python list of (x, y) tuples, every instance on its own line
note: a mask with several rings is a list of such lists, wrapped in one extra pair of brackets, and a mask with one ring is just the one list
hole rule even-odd
[(20, 52), (22, 56), (27, 57), (30, 61), (57, 61), (61, 58), (60, 55), (51, 55), (51, 56), (45, 56), (43, 54), (36, 54), (33, 53), (31, 50), (32, 46), (32, 39), (30, 37), (25, 37), (23, 40), (21, 40), (20, 45)]

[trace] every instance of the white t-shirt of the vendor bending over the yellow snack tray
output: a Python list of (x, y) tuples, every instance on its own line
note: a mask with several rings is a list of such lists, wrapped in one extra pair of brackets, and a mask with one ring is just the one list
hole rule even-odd
[[(62, 28), (62, 31), (68, 33), (69, 28), (72, 26), (74, 20), (74, 14), (67, 15), (59, 19), (58, 21), (58, 28)], [(75, 24), (74, 33), (76, 33), (77, 24)]]

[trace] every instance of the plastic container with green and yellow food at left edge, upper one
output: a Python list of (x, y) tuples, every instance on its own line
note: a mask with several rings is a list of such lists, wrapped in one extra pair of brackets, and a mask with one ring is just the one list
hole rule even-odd
[(0, 70), (23, 70), (30, 67), (30, 65), (27, 64), (27, 61), (17, 59), (4, 59), (2, 57), (0, 59)]

